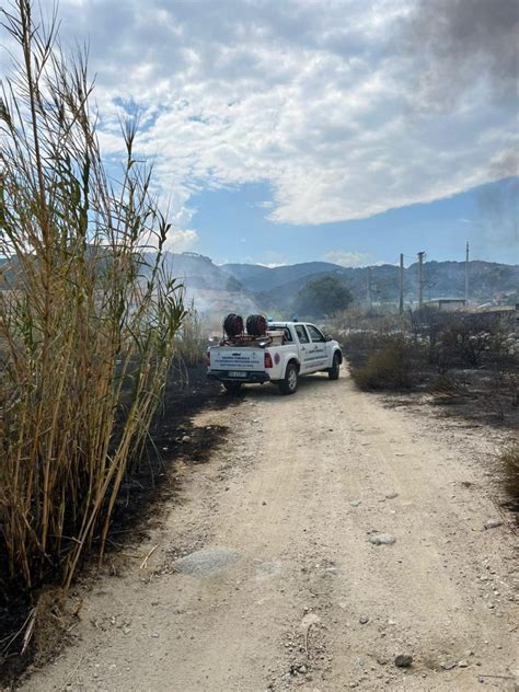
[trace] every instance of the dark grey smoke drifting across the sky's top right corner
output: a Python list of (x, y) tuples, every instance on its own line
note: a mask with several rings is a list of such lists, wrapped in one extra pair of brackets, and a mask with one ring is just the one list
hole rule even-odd
[(402, 39), (418, 68), (422, 107), (452, 108), (463, 92), (484, 82), (495, 102), (515, 100), (517, 0), (418, 0)]

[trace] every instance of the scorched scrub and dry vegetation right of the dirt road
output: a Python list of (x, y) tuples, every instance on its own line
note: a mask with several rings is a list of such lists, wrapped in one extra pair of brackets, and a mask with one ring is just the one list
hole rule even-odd
[(365, 391), (414, 394), (447, 416), (510, 432), (499, 478), (519, 510), (519, 335), (517, 318), (441, 313), (403, 315), (351, 310), (332, 323), (353, 380)]

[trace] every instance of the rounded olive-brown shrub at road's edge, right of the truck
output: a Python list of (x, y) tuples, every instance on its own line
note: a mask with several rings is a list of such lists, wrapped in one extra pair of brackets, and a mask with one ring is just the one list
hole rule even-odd
[(373, 343), (376, 350), (369, 354), (366, 365), (351, 368), (351, 377), (360, 389), (410, 389), (420, 381), (426, 354), (419, 344), (402, 334), (379, 336)]

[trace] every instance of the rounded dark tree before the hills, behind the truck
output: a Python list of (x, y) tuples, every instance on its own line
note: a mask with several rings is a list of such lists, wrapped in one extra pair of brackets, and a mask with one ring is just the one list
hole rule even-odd
[(296, 297), (295, 308), (298, 313), (324, 318), (346, 308), (351, 303), (351, 291), (335, 276), (320, 276), (305, 284)]

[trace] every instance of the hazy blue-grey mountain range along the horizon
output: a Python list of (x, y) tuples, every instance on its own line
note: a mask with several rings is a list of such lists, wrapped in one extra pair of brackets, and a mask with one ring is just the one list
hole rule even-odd
[[(2, 267), (3, 263), (3, 267)], [(266, 267), (260, 264), (216, 265), (197, 253), (166, 253), (165, 263), (172, 276), (181, 279), (187, 300), (195, 301), (203, 313), (212, 312), (286, 312), (298, 291), (310, 280), (324, 275), (335, 276), (351, 291), (358, 302), (366, 300), (368, 277), (374, 303), (399, 300), (400, 268), (382, 264), (368, 267), (343, 267), (328, 262)], [(0, 258), (0, 288), (10, 263)], [(469, 297), (472, 303), (519, 302), (519, 265), (473, 261), (469, 263)], [(424, 299), (463, 298), (465, 263), (427, 262), (424, 264)], [(418, 265), (404, 269), (404, 300), (416, 304)]]

